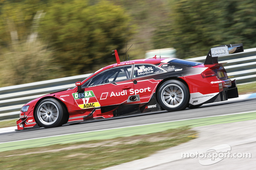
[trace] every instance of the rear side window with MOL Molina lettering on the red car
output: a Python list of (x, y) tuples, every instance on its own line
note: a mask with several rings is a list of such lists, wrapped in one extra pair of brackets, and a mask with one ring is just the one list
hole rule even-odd
[(159, 67), (156, 67), (154, 65), (135, 64), (134, 70), (133, 70), (133, 78), (148, 76), (148, 75), (157, 74), (157, 73), (161, 73), (161, 72), (164, 72), (164, 70), (162, 70)]

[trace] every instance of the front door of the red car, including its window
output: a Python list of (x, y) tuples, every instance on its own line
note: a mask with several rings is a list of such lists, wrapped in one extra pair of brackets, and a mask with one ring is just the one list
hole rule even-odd
[[(104, 107), (125, 103), (129, 90), (133, 89), (132, 65), (119, 66), (102, 71), (82, 85), (85, 92), (92, 91), (97, 99), (94, 106)], [(92, 103), (91, 99), (85, 104)], [(92, 105), (89, 105), (91, 107)], [(93, 107), (93, 106), (92, 106)]]

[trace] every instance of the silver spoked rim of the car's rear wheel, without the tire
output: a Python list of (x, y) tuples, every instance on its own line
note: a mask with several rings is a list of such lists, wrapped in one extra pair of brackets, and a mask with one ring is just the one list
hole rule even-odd
[(184, 92), (179, 85), (169, 84), (164, 87), (161, 98), (167, 107), (177, 107), (184, 100)]

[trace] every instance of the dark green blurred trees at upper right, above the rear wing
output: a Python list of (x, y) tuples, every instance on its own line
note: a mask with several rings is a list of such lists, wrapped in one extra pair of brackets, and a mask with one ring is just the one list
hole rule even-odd
[(174, 47), (179, 58), (203, 56), (223, 44), (243, 43), (253, 48), (255, 5), (252, 0), (172, 0), (169, 23), (155, 31), (155, 47)]

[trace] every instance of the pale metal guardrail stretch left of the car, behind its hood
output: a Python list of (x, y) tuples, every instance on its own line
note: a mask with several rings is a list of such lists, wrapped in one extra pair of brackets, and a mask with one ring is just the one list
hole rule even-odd
[(23, 85), (0, 88), (0, 120), (19, 118), (21, 107), (29, 101), (45, 94), (74, 87), (91, 74), (57, 78)]

